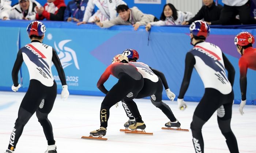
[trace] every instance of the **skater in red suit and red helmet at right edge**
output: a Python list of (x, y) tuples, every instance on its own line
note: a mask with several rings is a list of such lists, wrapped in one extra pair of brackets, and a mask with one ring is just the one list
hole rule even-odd
[(234, 40), (237, 45), (237, 51), (241, 54), (238, 65), (240, 68), (240, 90), (241, 103), (239, 107), (240, 114), (244, 114), (243, 108), (246, 104), (246, 87), (247, 87), (247, 69), (256, 70), (256, 48), (252, 47), (255, 42), (254, 36), (249, 32), (240, 32)]

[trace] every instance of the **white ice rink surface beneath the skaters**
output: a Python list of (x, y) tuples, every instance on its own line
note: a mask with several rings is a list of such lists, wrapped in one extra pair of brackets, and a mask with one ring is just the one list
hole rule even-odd
[[(18, 109), (25, 93), (0, 92), (0, 153), (8, 146), (10, 134)], [(99, 110), (104, 97), (70, 95), (67, 101), (57, 95), (49, 120), (52, 122), (58, 153), (194, 153), (190, 123), (197, 102), (187, 102), (185, 111), (177, 109), (177, 102), (164, 101), (170, 106), (181, 123), (181, 128), (189, 132), (162, 130), (168, 118), (151, 104), (149, 99), (136, 99), (140, 114), (146, 123), (146, 132), (153, 136), (124, 134), (119, 132), (128, 120), (124, 109), (110, 109), (107, 141), (84, 140), (89, 132), (99, 129)], [(31, 101), (32, 102), (32, 101)], [(231, 129), (240, 153), (256, 153), (256, 106), (246, 105), (245, 114), (238, 112), (239, 105), (233, 105)], [(217, 113), (202, 129), (205, 153), (228, 153), (225, 138), (217, 124)], [(15, 153), (44, 153), (47, 141), (35, 114), (25, 126), (16, 146)]]

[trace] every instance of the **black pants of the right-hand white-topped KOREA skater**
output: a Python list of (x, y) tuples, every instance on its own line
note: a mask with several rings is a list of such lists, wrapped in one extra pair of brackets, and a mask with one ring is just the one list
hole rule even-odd
[(230, 127), (233, 100), (233, 91), (230, 94), (223, 95), (216, 89), (205, 89), (204, 96), (195, 109), (191, 123), (192, 141), (196, 153), (204, 153), (202, 127), (216, 110), (219, 129), (226, 138), (230, 153), (239, 153), (236, 137)]

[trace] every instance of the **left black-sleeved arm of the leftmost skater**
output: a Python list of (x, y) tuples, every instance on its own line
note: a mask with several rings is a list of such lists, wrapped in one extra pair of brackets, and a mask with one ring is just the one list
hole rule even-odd
[(17, 87), (19, 85), (19, 79), (18, 79), (18, 74), (19, 74), (19, 69), (22, 65), (23, 62), (23, 56), (22, 56), (22, 51), (19, 50), (14, 66), (12, 68), (12, 82), (14, 84), (15, 87)]

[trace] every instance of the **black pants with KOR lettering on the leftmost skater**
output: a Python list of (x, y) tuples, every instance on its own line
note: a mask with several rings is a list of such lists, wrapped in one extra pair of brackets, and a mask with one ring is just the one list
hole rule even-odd
[(35, 112), (38, 122), (44, 129), (48, 145), (55, 144), (52, 124), (48, 119), (48, 114), (52, 110), (56, 95), (57, 85), (55, 81), (52, 87), (47, 87), (38, 80), (30, 80), (29, 89), (27, 90), (27, 93), (19, 107), (18, 118), (16, 119), (15, 126), (11, 134), (8, 149), (15, 150), (24, 126)]

